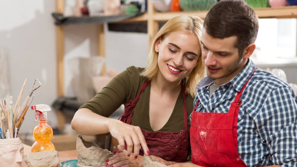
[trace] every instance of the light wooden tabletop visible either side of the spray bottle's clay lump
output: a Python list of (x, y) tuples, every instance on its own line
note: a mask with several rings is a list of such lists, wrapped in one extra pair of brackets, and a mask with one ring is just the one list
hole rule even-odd
[[(24, 145), (24, 159), (23, 159), (22, 167), (27, 167), (25, 163), (25, 155), (31, 152), (31, 146), (28, 146), (26, 144), (23, 144), (23, 145)], [(73, 159), (77, 159), (76, 150), (59, 151), (60, 163), (67, 160), (73, 160)]]

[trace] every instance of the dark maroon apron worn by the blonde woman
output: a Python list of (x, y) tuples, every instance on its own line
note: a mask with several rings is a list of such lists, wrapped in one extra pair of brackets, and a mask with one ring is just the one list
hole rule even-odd
[[(149, 84), (147, 80), (142, 87), (136, 98), (125, 105), (125, 112), (119, 117), (121, 121), (131, 124), (133, 109), (139, 100), (140, 94), (144, 91)], [(182, 95), (184, 99), (184, 128), (176, 133), (173, 132), (148, 132), (141, 129), (146, 144), (149, 147), (150, 155), (163, 158), (167, 161), (185, 162), (188, 157), (189, 147), (189, 130), (187, 126), (187, 106), (185, 100), (185, 88), (182, 87)], [(118, 152), (116, 152), (118, 153)], [(143, 155), (143, 149), (140, 150), (139, 155)]]

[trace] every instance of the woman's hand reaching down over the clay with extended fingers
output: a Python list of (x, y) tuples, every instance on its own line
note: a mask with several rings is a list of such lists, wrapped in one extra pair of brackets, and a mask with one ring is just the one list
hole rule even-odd
[(118, 140), (120, 150), (125, 149), (126, 142), (126, 155), (132, 154), (133, 151), (134, 157), (137, 157), (139, 155), (140, 145), (143, 148), (145, 154), (149, 155), (149, 148), (146, 145), (146, 141), (139, 126), (133, 126), (123, 123), (120, 120), (111, 119), (108, 120), (108, 130), (110, 134)]

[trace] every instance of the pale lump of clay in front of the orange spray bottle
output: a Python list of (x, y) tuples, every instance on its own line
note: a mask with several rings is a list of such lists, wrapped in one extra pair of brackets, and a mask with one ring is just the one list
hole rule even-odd
[(25, 156), (25, 162), (29, 167), (61, 167), (56, 150), (30, 152)]

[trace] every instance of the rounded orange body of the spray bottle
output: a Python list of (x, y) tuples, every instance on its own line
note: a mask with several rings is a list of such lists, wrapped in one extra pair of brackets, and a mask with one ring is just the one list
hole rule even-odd
[(39, 124), (33, 130), (36, 142), (31, 147), (31, 152), (56, 150), (50, 140), (53, 137), (53, 129), (47, 124), (47, 120), (39, 120)]

